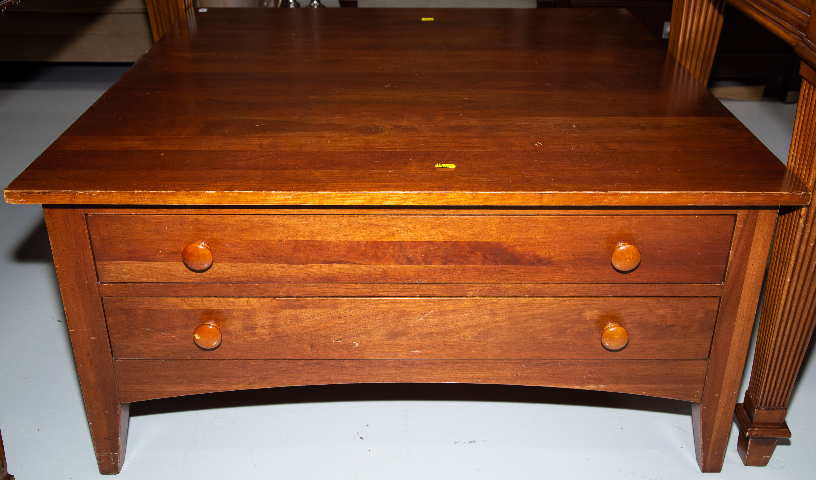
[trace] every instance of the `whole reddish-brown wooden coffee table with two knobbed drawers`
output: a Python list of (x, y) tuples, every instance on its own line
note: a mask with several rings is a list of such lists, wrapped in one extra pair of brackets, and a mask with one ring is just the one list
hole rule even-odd
[(6, 189), (101, 473), (130, 402), (399, 381), (687, 400), (721, 469), (808, 189), (626, 11), (423, 16), (191, 14)]

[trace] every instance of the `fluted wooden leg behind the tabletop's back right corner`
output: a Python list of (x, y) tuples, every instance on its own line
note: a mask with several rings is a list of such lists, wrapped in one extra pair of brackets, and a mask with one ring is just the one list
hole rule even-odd
[(694, 78), (708, 84), (720, 40), (725, 0), (674, 0), (668, 51)]

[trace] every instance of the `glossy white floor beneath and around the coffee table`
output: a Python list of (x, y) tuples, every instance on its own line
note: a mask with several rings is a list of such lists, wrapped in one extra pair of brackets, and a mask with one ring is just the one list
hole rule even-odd
[[(0, 84), (0, 184), (122, 71), (60, 67)], [(795, 105), (726, 105), (787, 155)], [(0, 429), (9, 471), (18, 480), (98, 478), (42, 211), (2, 204), (0, 216)], [(812, 398), (816, 358), (809, 356), (787, 417), (791, 441), (768, 467), (744, 467), (734, 428), (723, 472), (707, 478), (814, 478)], [(141, 402), (131, 413), (122, 480), (704, 476), (694, 461), (689, 403), (619, 393), (340, 385)]]

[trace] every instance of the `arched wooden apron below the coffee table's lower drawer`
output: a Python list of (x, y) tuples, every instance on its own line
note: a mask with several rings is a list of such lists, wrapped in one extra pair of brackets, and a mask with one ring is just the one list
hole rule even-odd
[(456, 382), (605, 390), (699, 402), (707, 360), (116, 360), (127, 402), (292, 385)]

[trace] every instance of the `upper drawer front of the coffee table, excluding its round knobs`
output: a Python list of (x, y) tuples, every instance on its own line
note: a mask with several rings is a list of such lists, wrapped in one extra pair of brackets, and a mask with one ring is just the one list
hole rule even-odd
[[(734, 216), (89, 215), (100, 282), (719, 283)], [(188, 269), (206, 242), (213, 263)], [(641, 251), (613, 268), (619, 242)]]

